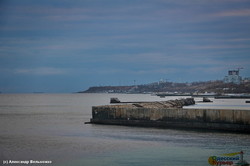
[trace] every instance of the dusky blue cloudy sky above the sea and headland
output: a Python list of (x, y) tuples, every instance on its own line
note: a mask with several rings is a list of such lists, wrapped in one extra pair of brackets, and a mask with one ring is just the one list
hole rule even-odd
[(0, 0), (0, 92), (250, 77), (249, 0)]

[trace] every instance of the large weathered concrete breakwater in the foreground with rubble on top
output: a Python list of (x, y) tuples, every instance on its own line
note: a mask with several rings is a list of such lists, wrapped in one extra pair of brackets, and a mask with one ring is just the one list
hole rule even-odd
[(182, 108), (192, 100), (94, 106), (90, 122), (250, 133), (250, 110)]

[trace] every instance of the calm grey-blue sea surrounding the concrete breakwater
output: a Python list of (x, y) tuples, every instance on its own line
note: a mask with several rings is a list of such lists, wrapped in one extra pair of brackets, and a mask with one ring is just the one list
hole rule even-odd
[[(0, 94), (0, 163), (209, 166), (210, 156), (240, 151), (244, 151), (244, 159), (250, 162), (249, 134), (85, 124), (92, 116), (92, 106), (108, 105), (111, 97), (121, 101), (180, 98), (105, 93)], [(202, 99), (196, 98), (197, 104), (186, 108), (250, 111), (250, 104), (243, 99), (211, 99), (213, 103), (200, 103)]]

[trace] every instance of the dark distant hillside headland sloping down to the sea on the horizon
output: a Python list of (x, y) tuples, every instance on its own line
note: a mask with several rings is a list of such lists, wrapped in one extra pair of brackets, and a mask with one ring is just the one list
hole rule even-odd
[(80, 93), (250, 93), (250, 82), (225, 84), (222, 81), (206, 81), (193, 83), (155, 82), (137, 86), (98, 86), (90, 87)]

